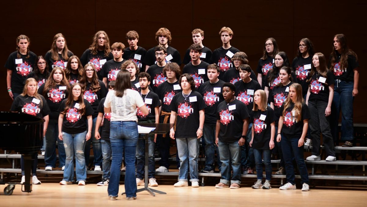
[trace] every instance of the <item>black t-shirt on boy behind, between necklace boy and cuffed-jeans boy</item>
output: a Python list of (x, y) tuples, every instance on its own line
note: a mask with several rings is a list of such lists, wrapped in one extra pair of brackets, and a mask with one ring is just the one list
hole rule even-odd
[(204, 124), (217, 123), (217, 108), (219, 103), (224, 101), (222, 89), (224, 81), (219, 80), (216, 83), (210, 83), (207, 81), (200, 86), (199, 93), (204, 98), (204, 102), (207, 105), (205, 108), (205, 121)]

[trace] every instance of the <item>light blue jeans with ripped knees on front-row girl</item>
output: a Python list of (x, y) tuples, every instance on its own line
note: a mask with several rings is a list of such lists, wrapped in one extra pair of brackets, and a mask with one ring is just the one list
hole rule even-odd
[(87, 179), (86, 160), (84, 159), (86, 135), (87, 131), (77, 134), (62, 132), (66, 153), (64, 181), (74, 182), (74, 154), (76, 181), (86, 181)]

